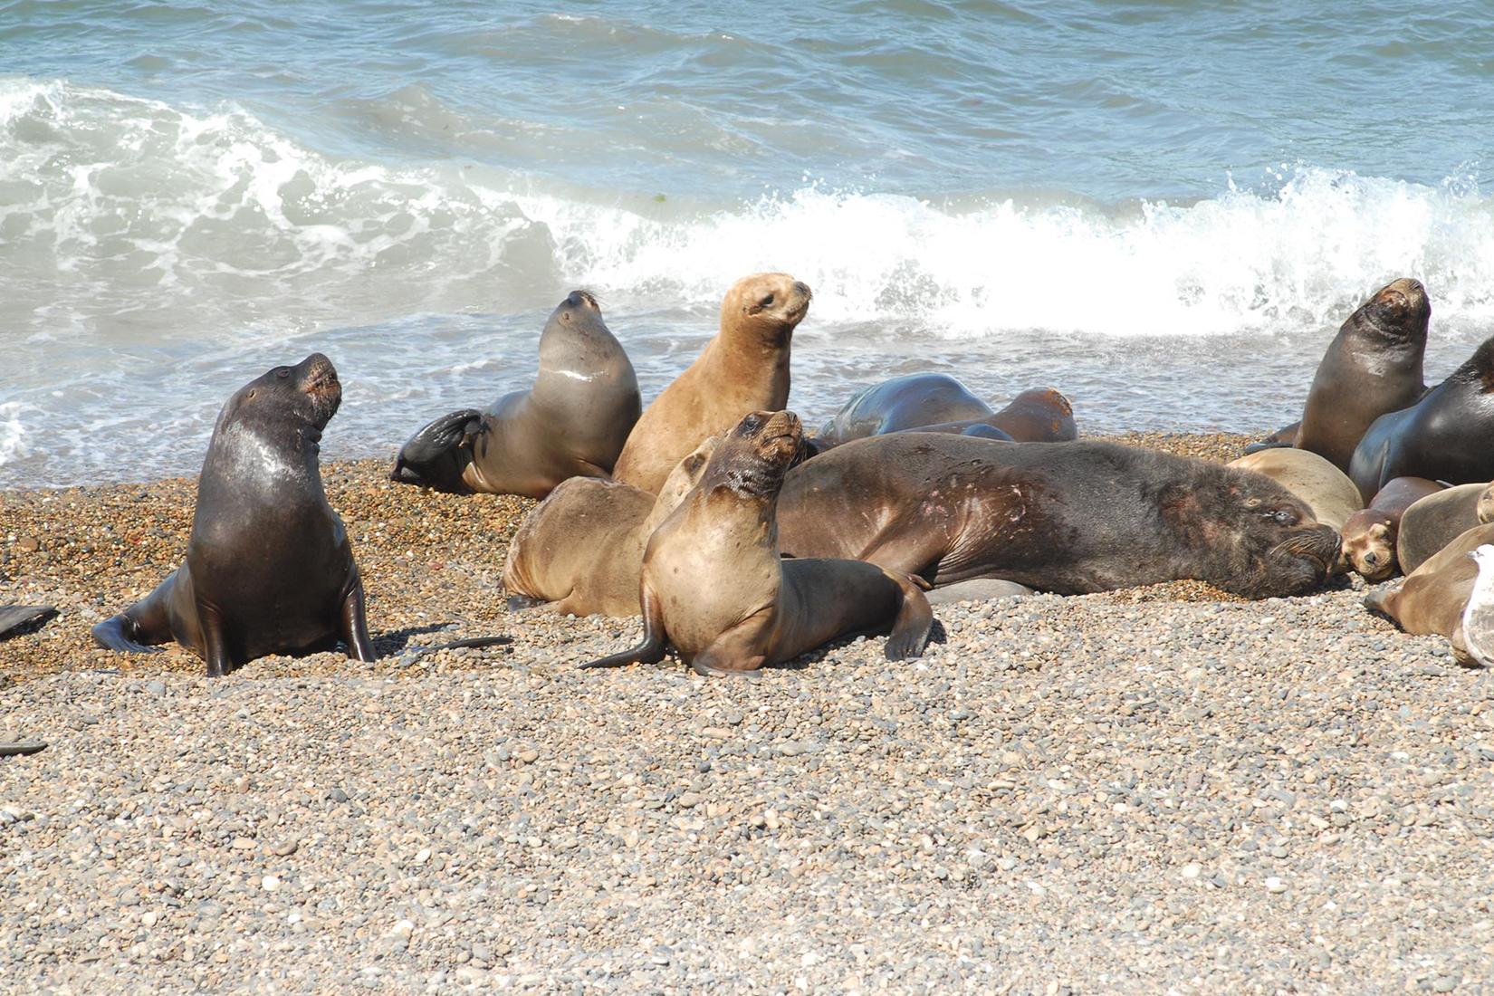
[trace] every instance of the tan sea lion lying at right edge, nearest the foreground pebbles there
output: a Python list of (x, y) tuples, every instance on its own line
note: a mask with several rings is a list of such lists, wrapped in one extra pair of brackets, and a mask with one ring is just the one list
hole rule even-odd
[(1415, 636), (1446, 636), (1452, 656), (1467, 663), (1463, 615), (1479, 576), (1479, 566), (1469, 554), (1490, 542), (1494, 524), (1464, 530), (1397, 584), (1370, 591), (1364, 606)]

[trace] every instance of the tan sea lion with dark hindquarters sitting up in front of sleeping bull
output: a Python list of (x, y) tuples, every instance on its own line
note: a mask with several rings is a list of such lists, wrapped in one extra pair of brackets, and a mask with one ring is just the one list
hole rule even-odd
[(887, 660), (923, 653), (934, 614), (907, 575), (780, 557), (774, 512), (801, 438), (793, 412), (751, 412), (732, 429), (648, 539), (642, 642), (584, 667), (654, 663), (668, 641), (702, 675), (741, 673), (889, 626)]

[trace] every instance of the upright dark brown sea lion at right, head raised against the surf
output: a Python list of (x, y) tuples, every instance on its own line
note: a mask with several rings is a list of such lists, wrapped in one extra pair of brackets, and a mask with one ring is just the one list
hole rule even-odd
[[(1297, 448), (1327, 457), (1348, 472), (1354, 448), (1370, 423), (1415, 405), (1427, 390), (1422, 355), (1430, 317), (1427, 288), (1404, 278), (1382, 287), (1349, 315), (1318, 364), (1303, 406)], [(1349, 476), (1360, 482), (1358, 475)], [(1363, 499), (1367, 502), (1379, 485), (1376, 481), (1367, 491), (1361, 485)]]

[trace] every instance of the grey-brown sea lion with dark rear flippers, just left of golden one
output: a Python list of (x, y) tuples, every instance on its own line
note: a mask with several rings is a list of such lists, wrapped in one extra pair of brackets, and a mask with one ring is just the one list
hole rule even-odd
[(569, 478), (610, 475), (639, 411), (627, 352), (596, 299), (571, 291), (539, 334), (535, 385), (486, 412), (468, 408), (430, 423), (399, 451), (390, 478), (456, 494), (542, 499)]

